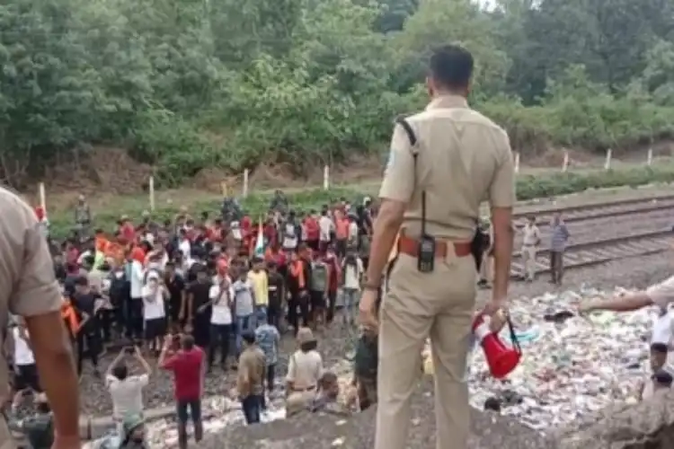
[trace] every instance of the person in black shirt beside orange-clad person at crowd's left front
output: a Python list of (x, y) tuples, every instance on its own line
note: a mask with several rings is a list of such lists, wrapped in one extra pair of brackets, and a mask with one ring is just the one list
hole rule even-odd
[[(93, 374), (97, 377), (98, 356), (102, 350), (101, 325), (98, 318), (98, 301), (101, 295), (92, 291), (86, 277), (75, 279), (75, 310), (80, 315), (80, 329), (77, 331), (77, 373), (82, 374), (84, 357), (89, 357)], [(86, 349), (86, 351), (84, 351)]]

